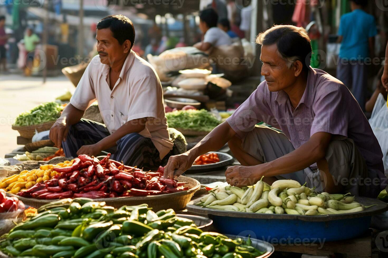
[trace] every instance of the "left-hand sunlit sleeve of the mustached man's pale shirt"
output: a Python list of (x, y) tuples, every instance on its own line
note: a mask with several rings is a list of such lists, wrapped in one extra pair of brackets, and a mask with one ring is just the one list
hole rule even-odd
[(90, 63), (83, 73), (80, 82), (70, 99), (70, 104), (75, 108), (85, 111), (96, 99), (94, 92), (94, 82), (91, 76), (92, 63)]

